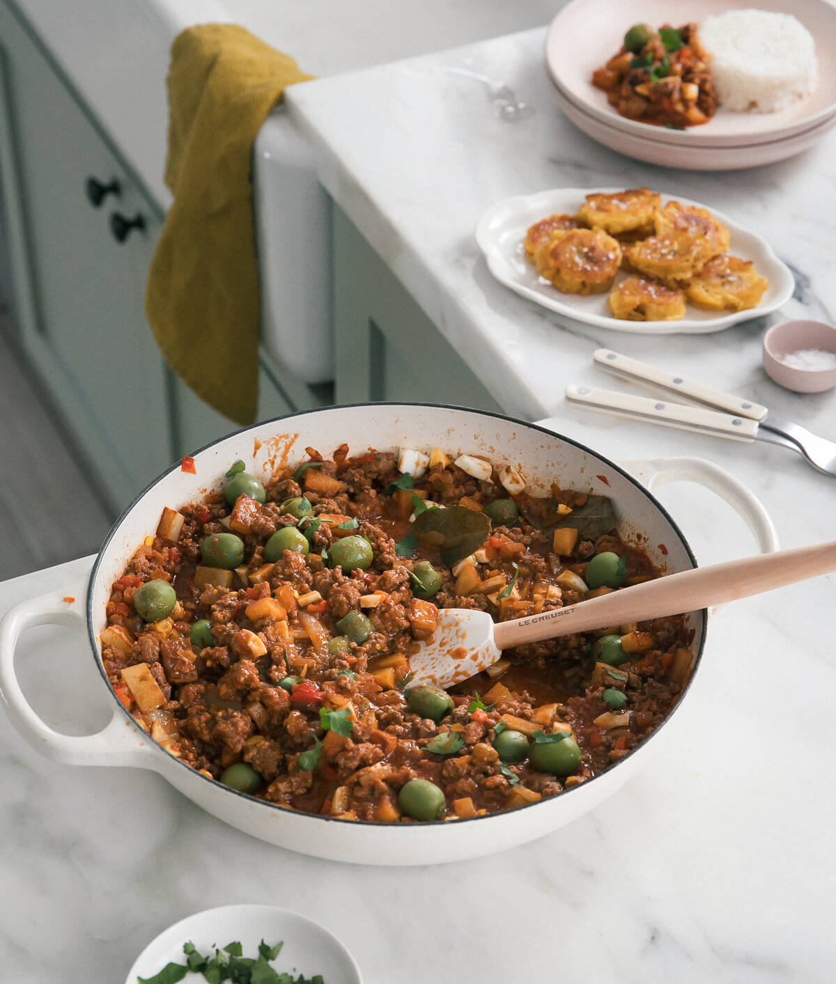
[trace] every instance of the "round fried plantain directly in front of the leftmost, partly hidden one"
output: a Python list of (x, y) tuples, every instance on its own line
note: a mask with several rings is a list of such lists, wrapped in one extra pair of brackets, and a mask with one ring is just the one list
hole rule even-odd
[(566, 294), (609, 290), (621, 263), (621, 247), (603, 229), (570, 229), (538, 247), (535, 266)]

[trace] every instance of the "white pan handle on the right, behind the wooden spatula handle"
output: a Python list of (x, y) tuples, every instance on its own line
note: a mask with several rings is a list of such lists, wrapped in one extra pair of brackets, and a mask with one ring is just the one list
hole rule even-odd
[(761, 501), (734, 475), (704, 458), (656, 458), (649, 461), (618, 461), (649, 491), (669, 482), (696, 482), (724, 499), (749, 527), (761, 553), (780, 546), (778, 533)]

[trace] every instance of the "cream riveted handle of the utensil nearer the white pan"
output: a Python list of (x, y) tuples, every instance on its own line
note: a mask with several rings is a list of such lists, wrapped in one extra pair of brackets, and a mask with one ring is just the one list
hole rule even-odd
[(620, 417), (667, 424), (680, 430), (726, 437), (733, 441), (753, 441), (759, 436), (757, 420), (707, 410), (701, 406), (686, 406), (672, 400), (653, 400), (648, 397), (634, 397), (630, 393), (575, 385), (566, 387), (566, 400), (583, 403), (591, 410), (603, 410)]

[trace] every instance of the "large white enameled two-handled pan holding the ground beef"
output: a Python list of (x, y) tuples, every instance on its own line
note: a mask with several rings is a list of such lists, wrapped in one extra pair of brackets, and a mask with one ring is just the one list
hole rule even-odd
[[(106, 625), (110, 586), (121, 577), (145, 536), (155, 531), (162, 508), (178, 508), (219, 486), (226, 469), (237, 459), (266, 481), (273, 469), (304, 460), (305, 447), (327, 457), (344, 442), (352, 454), (400, 447), (427, 451), (440, 447), (454, 455), (468, 452), (496, 465), (512, 464), (534, 494), (547, 495), (551, 482), (556, 481), (563, 488), (592, 489), (609, 495), (620, 518), (622, 536), (642, 545), (666, 573), (687, 570), (696, 562), (674, 521), (641, 484), (649, 479), (651, 485), (685, 478), (709, 486), (737, 509), (763, 551), (777, 547), (772, 523), (758, 501), (736, 479), (708, 461), (632, 462), (630, 467), (641, 475), (640, 481), (623, 467), (547, 427), (448, 406), (374, 403), (284, 417), (204, 448), (194, 456), (194, 474), (179, 464), (171, 468), (114, 524), (96, 557), (89, 582), (67, 584), (7, 613), (0, 623), (0, 691), (10, 719), (32, 747), (73, 766), (153, 769), (231, 827), (304, 854), (365, 864), (437, 864), (492, 853), (556, 830), (615, 792), (645, 761), (650, 747), (665, 741), (664, 723), (615, 766), (558, 796), (472, 820), (394, 825), (301, 813), (239, 793), (190, 769), (134, 723), (107, 685), (98, 636)], [(705, 643), (706, 618), (705, 611), (689, 616), (694, 630), (691, 649), (695, 670)], [(81, 630), (85, 622), (101, 674), (102, 700), (111, 702), (113, 713), (97, 734), (70, 737), (50, 728), (30, 707), (15, 675), (15, 647), (21, 633), (34, 625), (68, 624)], [(681, 700), (687, 699), (686, 692)]]

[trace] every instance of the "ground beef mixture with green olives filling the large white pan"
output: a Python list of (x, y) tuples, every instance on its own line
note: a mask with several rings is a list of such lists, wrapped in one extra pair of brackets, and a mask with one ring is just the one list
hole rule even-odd
[[(284, 807), (413, 823), (559, 794), (671, 710), (681, 617), (506, 650), (449, 695), (410, 686), (439, 608), (502, 621), (655, 577), (609, 500), (534, 498), (513, 469), (438, 449), (307, 454), (266, 486), (230, 462), (112, 585), (108, 680), (171, 755)], [(474, 526), (464, 556), (431, 528), (441, 509)]]

